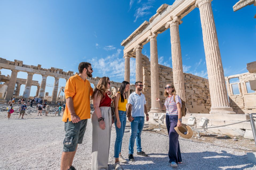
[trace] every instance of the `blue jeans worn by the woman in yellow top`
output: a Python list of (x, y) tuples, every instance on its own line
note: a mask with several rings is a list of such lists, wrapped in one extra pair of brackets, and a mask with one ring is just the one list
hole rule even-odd
[(126, 125), (126, 111), (118, 111), (118, 115), (121, 122), (121, 128), (120, 129), (117, 128), (116, 121), (115, 121), (115, 127), (116, 127), (116, 142), (115, 142), (115, 152), (114, 152), (115, 158), (119, 158), (119, 153), (121, 152), (124, 130)]

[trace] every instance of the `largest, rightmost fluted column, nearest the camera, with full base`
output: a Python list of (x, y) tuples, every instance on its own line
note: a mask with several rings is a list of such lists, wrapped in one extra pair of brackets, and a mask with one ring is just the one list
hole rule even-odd
[(210, 113), (235, 114), (229, 106), (211, 0), (197, 0), (203, 31), (204, 52), (211, 95)]

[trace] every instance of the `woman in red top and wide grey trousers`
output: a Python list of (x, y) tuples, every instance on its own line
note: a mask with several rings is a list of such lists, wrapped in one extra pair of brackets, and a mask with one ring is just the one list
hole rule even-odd
[(108, 77), (102, 77), (92, 94), (95, 111), (92, 114), (92, 170), (108, 169), (108, 157), (112, 126), (111, 98)]

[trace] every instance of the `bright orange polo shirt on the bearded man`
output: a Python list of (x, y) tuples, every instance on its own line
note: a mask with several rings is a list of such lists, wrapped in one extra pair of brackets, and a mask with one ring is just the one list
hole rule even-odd
[[(90, 96), (93, 93), (90, 82), (85, 81), (79, 76), (71, 76), (65, 86), (65, 97), (72, 97), (74, 103), (74, 110), (81, 120), (90, 118)], [(68, 104), (62, 117), (62, 121), (67, 119), (71, 121), (71, 113), (68, 110)]]

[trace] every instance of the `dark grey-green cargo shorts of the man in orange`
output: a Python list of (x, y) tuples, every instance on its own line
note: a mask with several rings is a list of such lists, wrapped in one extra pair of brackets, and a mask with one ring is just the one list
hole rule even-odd
[(87, 119), (78, 123), (72, 123), (69, 120), (65, 122), (64, 129), (66, 133), (63, 141), (63, 152), (73, 152), (76, 150), (77, 144), (82, 144), (86, 125)]

